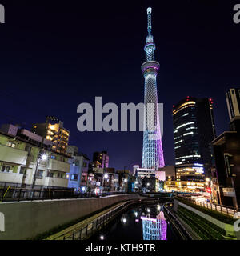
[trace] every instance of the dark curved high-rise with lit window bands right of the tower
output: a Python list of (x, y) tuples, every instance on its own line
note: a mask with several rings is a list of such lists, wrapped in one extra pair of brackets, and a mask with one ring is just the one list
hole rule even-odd
[(216, 137), (213, 100), (187, 97), (173, 108), (174, 151), (180, 190), (202, 190), (210, 176), (210, 142)]

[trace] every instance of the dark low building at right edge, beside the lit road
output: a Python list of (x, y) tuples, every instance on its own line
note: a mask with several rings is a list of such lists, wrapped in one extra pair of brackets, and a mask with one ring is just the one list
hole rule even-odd
[(237, 130), (226, 131), (212, 142), (214, 150), (215, 177), (213, 190), (217, 191), (219, 204), (232, 206), (238, 210), (240, 205), (240, 117), (230, 122)]

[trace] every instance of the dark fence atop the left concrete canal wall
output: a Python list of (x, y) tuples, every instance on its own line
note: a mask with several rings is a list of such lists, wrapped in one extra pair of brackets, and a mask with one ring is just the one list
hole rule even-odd
[(51, 199), (70, 199), (70, 198), (99, 198), (114, 194), (126, 194), (123, 192), (104, 192), (101, 195), (93, 193), (74, 193), (73, 189), (52, 189), (40, 187), (38, 189), (19, 188), (12, 186), (0, 187), (0, 202), (19, 202), (34, 200)]

